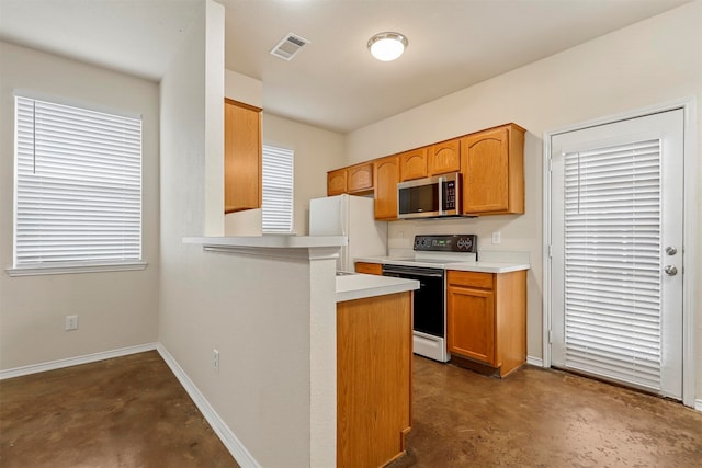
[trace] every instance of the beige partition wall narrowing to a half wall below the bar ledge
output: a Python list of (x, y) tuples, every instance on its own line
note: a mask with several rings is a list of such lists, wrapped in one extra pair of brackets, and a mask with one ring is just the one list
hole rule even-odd
[(224, 9), (203, 9), (161, 81), (160, 341), (246, 447), (242, 466), (309, 466), (309, 262), (182, 242), (207, 232), (207, 180), (224, 173), (223, 134), (205, 139), (224, 119)]

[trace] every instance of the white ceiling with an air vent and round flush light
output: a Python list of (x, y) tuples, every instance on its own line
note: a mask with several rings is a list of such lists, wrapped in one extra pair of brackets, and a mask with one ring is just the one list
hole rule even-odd
[[(0, 38), (158, 81), (203, 0), (0, 0)], [(347, 133), (690, 0), (216, 0), (265, 111)], [(409, 38), (394, 62), (375, 33)], [(310, 41), (291, 61), (269, 50)]]

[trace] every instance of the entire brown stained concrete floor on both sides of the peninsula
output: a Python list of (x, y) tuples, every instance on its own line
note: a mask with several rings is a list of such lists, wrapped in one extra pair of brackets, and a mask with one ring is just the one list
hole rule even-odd
[[(499, 380), (415, 357), (414, 373), (390, 468), (702, 466), (702, 412), (680, 403), (534, 367)], [(149, 352), (0, 381), (0, 466), (238, 465)]]

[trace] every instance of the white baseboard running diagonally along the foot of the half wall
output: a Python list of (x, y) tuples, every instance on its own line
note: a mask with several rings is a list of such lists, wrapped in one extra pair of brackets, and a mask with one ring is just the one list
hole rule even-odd
[(222, 443), (227, 450), (231, 454), (234, 459), (239, 464), (241, 468), (261, 468), (261, 465), (256, 461), (253, 456), (246, 449), (244, 444), (231, 432), (229, 426), (219, 418), (219, 414), (212, 408), (210, 402), (200, 392), (195, 384), (188, 377), (185, 372), (180, 367), (176, 358), (163, 347), (161, 343), (158, 343), (156, 350), (159, 352), (171, 372), (176, 374), (176, 377), (183, 386), (190, 398), (193, 400), (200, 412), (205, 420), (210, 423), (213, 431), (217, 434)]

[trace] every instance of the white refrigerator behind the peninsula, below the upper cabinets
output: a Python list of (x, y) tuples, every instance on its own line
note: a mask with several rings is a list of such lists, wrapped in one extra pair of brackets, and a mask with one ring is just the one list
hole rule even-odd
[(376, 221), (373, 198), (353, 195), (309, 201), (309, 236), (347, 236), (337, 270), (353, 272), (359, 256), (387, 254), (387, 222)]

